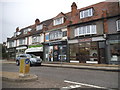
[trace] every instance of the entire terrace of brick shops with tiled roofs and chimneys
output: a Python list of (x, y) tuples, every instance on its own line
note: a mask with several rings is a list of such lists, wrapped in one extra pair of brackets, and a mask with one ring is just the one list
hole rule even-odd
[(9, 57), (20, 53), (43, 61), (118, 64), (120, 60), (120, 3), (100, 2), (40, 22), (35, 20), (7, 39)]

